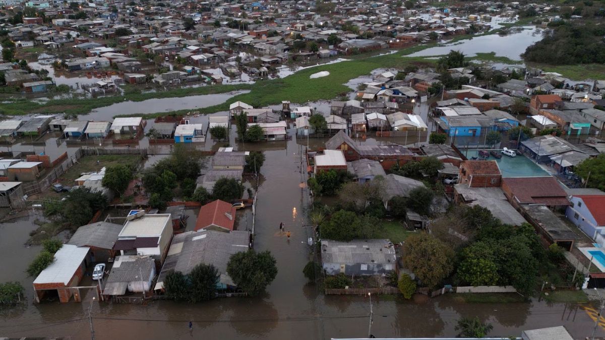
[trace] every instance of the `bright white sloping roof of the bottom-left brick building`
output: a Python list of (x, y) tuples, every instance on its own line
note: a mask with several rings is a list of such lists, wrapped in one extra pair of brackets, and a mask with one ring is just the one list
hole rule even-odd
[(76, 247), (71, 244), (64, 244), (54, 254), (54, 262), (42, 270), (40, 275), (34, 280), (34, 284), (69, 284), (74, 273), (76, 273), (88, 254), (88, 250), (90, 250), (89, 247)]

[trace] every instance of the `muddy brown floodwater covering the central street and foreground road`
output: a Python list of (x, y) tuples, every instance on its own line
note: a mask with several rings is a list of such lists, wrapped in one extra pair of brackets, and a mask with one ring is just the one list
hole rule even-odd
[[(290, 129), (290, 134), (295, 133)], [(224, 298), (203, 304), (155, 301), (146, 306), (93, 303), (96, 339), (329, 339), (364, 337), (368, 330), (369, 301), (361, 296), (324, 296), (318, 287), (306, 283), (302, 267), (309, 260), (306, 224), (306, 189), (301, 152), (306, 140), (242, 144), (238, 149), (263, 150), (264, 179), (258, 190), (255, 249), (270, 250), (277, 260), (278, 274), (258, 298)], [(319, 141), (311, 140), (310, 144)], [(208, 143), (210, 144), (210, 143)], [(206, 148), (212, 146), (206, 145)], [(82, 303), (47, 302), (32, 304), (32, 278), (25, 267), (39, 248), (23, 246), (36, 215), (0, 225), (0, 281), (21, 281), (28, 304), (0, 310), (0, 336), (70, 336), (90, 339), (87, 315), (92, 293)], [(286, 224), (292, 237), (278, 232)], [(378, 337), (454, 336), (461, 316), (479, 316), (494, 325), (491, 335), (518, 336), (522, 329), (565, 325), (575, 338), (592, 333), (592, 319), (580, 305), (546, 302), (508, 304), (465, 304), (453, 296), (420, 301), (373, 297), (373, 334)], [(194, 324), (189, 333), (188, 322)], [(605, 335), (602, 329), (598, 335)]]

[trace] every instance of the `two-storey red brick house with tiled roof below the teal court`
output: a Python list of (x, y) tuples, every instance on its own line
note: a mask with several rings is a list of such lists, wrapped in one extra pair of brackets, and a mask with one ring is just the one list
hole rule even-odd
[(458, 183), (470, 188), (499, 187), (502, 184), (502, 173), (495, 160), (465, 160), (460, 163)]

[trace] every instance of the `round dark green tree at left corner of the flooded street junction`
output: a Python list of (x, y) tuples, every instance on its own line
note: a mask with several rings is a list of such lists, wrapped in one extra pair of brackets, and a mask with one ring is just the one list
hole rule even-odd
[(251, 296), (259, 295), (275, 279), (277, 267), (271, 252), (257, 253), (250, 249), (231, 255), (227, 263), (227, 273), (237, 285)]

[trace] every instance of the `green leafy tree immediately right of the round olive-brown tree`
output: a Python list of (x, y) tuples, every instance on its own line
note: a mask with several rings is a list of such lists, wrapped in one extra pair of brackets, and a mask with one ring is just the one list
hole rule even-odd
[(498, 266), (490, 244), (476, 242), (462, 251), (457, 276), (471, 286), (493, 286), (498, 283)]

